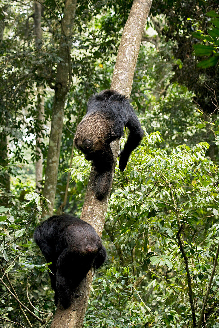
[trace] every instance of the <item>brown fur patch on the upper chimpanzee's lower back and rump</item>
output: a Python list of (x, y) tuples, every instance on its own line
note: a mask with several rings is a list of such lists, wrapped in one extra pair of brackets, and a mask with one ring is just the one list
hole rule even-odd
[(79, 123), (74, 143), (76, 147), (80, 146), (85, 139), (96, 143), (104, 143), (111, 136), (110, 121), (107, 120), (105, 113), (91, 113), (86, 115)]

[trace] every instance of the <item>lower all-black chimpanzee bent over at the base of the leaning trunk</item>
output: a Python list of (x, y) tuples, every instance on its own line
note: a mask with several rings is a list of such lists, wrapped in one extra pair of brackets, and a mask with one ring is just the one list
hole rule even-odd
[(40, 224), (34, 233), (37, 245), (47, 262), (55, 291), (67, 309), (79, 297), (82, 280), (93, 265), (98, 269), (107, 259), (100, 237), (87, 222), (70, 215), (54, 215)]

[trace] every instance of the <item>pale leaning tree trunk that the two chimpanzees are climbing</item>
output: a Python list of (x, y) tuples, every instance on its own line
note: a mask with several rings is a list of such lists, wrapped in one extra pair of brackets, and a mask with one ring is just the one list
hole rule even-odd
[[(151, 8), (152, 0), (134, 0), (129, 18), (126, 22), (121, 43), (118, 50), (111, 89), (130, 96), (137, 62), (141, 37)], [(114, 169), (119, 152), (119, 140), (110, 144), (114, 155)], [(99, 236), (102, 235), (109, 202), (109, 195), (99, 201), (91, 186), (94, 183), (94, 169), (92, 167), (85, 195), (81, 219), (90, 223)], [(67, 310), (58, 304), (51, 328), (81, 328), (83, 326), (87, 303), (94, 277), (94, 270), (90, 270), (85, 277), (82, 295), (73, 301)]]

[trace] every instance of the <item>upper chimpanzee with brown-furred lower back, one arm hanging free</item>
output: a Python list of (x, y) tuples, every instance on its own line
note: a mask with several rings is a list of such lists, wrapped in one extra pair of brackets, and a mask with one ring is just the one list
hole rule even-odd
[(126, 96), (114, 90), (104, 90), (91, 96), (87, 113), (78, 125), (75, 147), (91, 160), (96, 171), (94, 194), (98, 199), (109, 194), (112, 184), (113, 154), (110, 142), (122, 137), (124, 127), (130, 130), (128, 140), (119, 156), (119, 170), (123, 172), (132, 151), (138, 146), (143, 130)]

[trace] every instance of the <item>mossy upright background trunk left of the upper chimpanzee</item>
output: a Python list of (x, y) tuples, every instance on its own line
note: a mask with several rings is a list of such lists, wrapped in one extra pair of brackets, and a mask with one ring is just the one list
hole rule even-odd
[(53, 207), (56, 195), (57, 175), (59, 168), (59, 157), (61, 148), (62, 123), (64, 117), (65, 96), (71, 82), (71, 34), (74, 23), (77, 0), (66, 0), (61, 21), (61, 39), (59, 57), (61, 61), (57, 65), (55, 97), (53, 103), (53, 113), (51, 119), (51, 132), (47, 155), (47, 165), (45, 174), (45, 185), (43, 195), (50, 200), (49, 214), (53, 214)]

